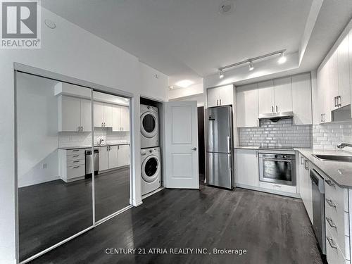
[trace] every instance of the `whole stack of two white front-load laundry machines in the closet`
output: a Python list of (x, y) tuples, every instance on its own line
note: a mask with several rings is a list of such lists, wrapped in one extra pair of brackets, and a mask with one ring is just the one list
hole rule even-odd
[(141, 104), (142, 195), (161, 187), (158, 108)]

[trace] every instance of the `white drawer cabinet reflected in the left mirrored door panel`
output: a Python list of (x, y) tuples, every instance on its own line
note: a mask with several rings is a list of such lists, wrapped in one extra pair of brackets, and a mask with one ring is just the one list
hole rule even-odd
[(73, 182), (82, 180), (85, 176), (84, 149), (59, 149), (58, 174), (61, 180)]

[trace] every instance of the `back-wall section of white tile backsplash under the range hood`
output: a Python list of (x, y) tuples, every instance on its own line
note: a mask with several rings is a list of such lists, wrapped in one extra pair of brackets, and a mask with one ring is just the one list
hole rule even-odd
[(312, 146), (312, 125), (292, 125), (292, 119), (260, 120), (260, 127), (240, 127), (241, 146)]

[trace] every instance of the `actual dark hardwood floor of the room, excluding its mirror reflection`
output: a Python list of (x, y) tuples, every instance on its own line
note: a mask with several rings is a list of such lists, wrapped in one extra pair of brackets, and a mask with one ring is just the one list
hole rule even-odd
[[(322, 263), (303, 203), (246, 189), (163, 189), (32, 263)], [(246, 249), (108, 254), (106, 249)]]

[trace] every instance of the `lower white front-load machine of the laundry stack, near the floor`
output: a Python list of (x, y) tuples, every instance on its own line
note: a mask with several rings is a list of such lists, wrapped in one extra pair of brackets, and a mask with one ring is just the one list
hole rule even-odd
[(161, 187), (160, 148), (141, 150), (142, 195), (149, 194)]

